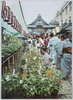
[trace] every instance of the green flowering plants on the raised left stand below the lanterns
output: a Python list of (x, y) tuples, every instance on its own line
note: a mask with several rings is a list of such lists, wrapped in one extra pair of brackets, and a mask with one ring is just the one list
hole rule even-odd
[(21, 40), (13, 35), (4, 34), (2, 39), (2, 57), (10, 55), (21, 47)]

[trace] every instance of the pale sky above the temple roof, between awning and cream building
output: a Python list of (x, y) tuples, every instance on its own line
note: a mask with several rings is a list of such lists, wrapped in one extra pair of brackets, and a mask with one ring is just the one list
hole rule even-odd
[[(15, 3), (18, 0), (6, 0), (7, 3)], [(44, 21), (49, 23), (67, 0), (20, 0), (23, 8), (26, 24), (32, 23), (41, 14)], [(15, 9), (15, 8), (14, 8)], [(17, 12), (18, 13), (18, 12)]]

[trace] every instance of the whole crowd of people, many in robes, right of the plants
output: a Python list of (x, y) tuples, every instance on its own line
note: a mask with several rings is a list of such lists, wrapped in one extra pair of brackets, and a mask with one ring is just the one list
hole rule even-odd
[(61, 70), (62, 78), (68, 79), (72, 65), (72, 43), (66, 35), (57, 37), (53, 33), (49, 33), (47, 36), (42, 33), (42, 36), (36, 35), (33, 40), (29, 38), (28, 42), (29, 48), (33, 44), (37, 49), (40, 49), (43, 54), (41, 60), (45, 62), (46, 70), (48, 69), (48, 61), (51, 61), (57, 69)]

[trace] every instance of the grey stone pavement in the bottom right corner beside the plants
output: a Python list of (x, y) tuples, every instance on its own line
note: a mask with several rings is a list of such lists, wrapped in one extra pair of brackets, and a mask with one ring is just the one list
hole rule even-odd
[(62, 82), (63, 89), (59, 90), (58, 99), (72, 99), (72, 74)]

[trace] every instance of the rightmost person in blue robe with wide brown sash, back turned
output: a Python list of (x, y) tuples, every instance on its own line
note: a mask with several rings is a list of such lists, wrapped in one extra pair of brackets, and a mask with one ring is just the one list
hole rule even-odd
[(61, 36), (61, 44), (59, 45), (59, 55), (61, 56), (61, 70), (64, 80), (68, 79), (71, 72), (72, 64), (72, 43), (66, 39), (65, 35)]

